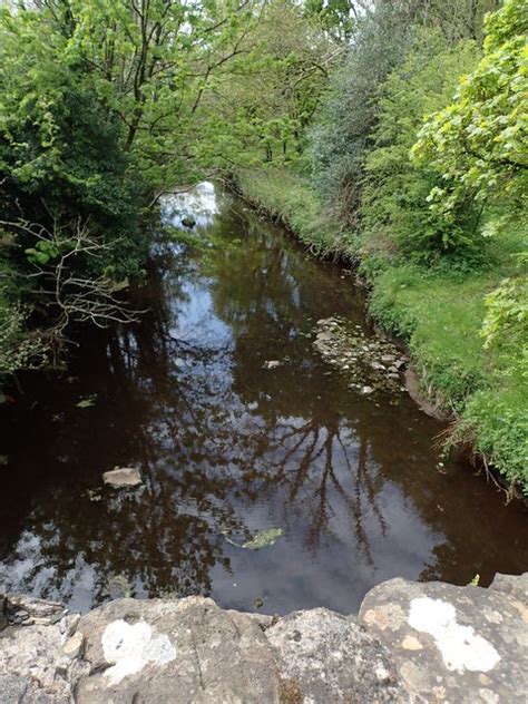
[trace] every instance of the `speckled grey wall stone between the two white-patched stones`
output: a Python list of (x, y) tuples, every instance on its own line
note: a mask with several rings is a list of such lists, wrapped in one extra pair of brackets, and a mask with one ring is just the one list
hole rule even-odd
[(296, 693), (293, 701), (421, 701), (404, 688), (380, 642), (350, 617), (325, 608), (295, 612), (267, 628), (266, 636), (283, 681)]

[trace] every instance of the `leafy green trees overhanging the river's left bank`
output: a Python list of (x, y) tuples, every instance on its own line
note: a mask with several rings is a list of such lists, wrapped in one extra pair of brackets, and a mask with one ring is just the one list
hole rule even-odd
[[(261, 3), (10, 8), (0, 9), (0, 211), (18, 233), (9, 266), (33, 275), (35, 291), (23, 305), (20, 290), (6, 303), (4, 350), (23, 338), (22, 310), (37, 300), (56, 335), (70, 319), (104, 324), (86, 302), (97, 306), (116, 282), (140, 274), (148, 251), (141, 216), (158, 193), (225, 166), (235, 140), (216, 119), (215, 82), (235, 59), (239, 67), (251, 58)], [(77, 282), (82, 291), (70, 294), (84, 306), (71, 307), (71, 296), (57, 305), (58, 277)]]

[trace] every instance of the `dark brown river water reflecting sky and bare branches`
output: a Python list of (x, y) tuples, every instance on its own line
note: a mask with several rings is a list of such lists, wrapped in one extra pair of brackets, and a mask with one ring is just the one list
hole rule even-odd
[[(526, 512), (442, 460), (444, 427), (403, 392), (354, 391), (313, 346), (322, 317), (373, 334), (351, 277), (211, 185), (165, 222), (182, 206), (201, 246), (156, 244), (141, 322), (90, 333), (1, 411), (0, 591), (350, 613), (394, 576), (527, 569)], [(144, 486), (102, 488), (114, 467)]]

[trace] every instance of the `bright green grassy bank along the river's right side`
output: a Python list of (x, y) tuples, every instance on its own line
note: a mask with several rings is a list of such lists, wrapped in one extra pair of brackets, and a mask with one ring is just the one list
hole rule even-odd
[(409, 265), (340, 233), (317, 194), (285, 170), (239, 175), (242, 193), (281, 218), (319, 255), (359, 262), (371, 286), (370, 312), (408, 343), (422, 392), (457, 418), (451, 442), (467, 444), (506, 482), (528, 493), (528, 378), (514, 363), (518, 350), (485, 349), (485, 297), (518, 275), (515, 254), (526, 250), (526, 226), (510, 226), (490, 242), (486, 268), (437, 271)]

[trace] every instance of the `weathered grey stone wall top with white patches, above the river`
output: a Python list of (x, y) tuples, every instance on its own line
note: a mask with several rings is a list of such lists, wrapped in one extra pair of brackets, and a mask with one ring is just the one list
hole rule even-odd
[(392, 579), (359, 616), (119, 599), (84, 616), (0, 597), (1, 704), (527, 701), (528, 573), (489, 589)]

